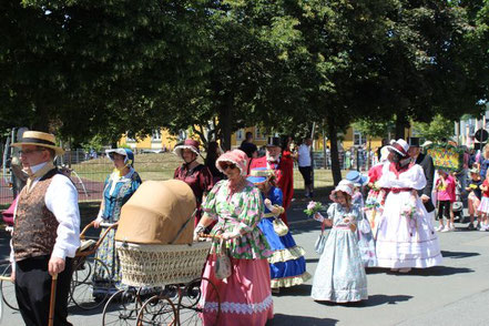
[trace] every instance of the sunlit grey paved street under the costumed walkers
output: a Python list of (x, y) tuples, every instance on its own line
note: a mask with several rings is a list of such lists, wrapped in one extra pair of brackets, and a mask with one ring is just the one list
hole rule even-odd
[[(302, 205), (299, 205), (302, 206)], [(293, 207), (294, 208), (294, 207)], [(291, 212), (294, 237), (307, 252), (307, 269), (314, 274), (318, 255), (314, 242), (319, 233), (302, 208)], [(275, 318), (268, 325), (488, 325), (489, 233), (466, 232), (458, 225), (452, 233), (438, 233), (444, 266), (418, 269), (408, 275), (368, 271), (369, 298), (365, 303), (333, 305), (315, 303), (310, 284), (274, 296)], [(7, 253), (4, 233), (1, 254)], [(20, 315), (6, 307), (2, 325), (22, 325)], [(101, 310), (71, 308), (73, 325), (101, 325)]]

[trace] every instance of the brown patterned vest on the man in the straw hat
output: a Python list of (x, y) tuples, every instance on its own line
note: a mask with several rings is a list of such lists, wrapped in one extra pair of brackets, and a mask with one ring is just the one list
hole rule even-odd
[(53, 251), (59, 223), (45, 206), (44, 196), (57, 173), (57, 169), (49, 171), (29, 193), (23, 187), (19, 195), (12, 235), (16, 262)]

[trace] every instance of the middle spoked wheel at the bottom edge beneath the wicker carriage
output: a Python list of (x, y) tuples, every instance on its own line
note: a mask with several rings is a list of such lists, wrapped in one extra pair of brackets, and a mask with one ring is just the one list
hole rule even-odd
[(155, 295), (149, 298), (137, 314), (137, 326), (172, 325), (176, 326), (176, 309), (172, 300), (164, 295)]

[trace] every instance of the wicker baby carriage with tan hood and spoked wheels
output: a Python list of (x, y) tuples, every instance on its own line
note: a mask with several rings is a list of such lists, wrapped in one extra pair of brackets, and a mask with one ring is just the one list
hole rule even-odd
[[(217, 289), (202, 277), (211, 242), (193, 242), (195, 208), (192, 189), (177, 180), (146, 181), (124, 204), (115, 234), (122, 286), (103, 325), (200, 325), (201, 286)], [(220, 314), (221, 304), (215, 322)]]

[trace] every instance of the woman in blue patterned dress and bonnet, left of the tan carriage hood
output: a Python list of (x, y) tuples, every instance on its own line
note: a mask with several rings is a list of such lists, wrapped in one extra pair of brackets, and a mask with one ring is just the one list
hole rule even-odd
[[(114, 164), (113, 172), (106, 177), (103, 187), (103, 198), (95, 227), (101, 223), (115, 223), (121, 215), (124, 205), (132, 194), (141, 185), (141, 177), (134, 171), (134, 154), (128, 149), (108, 150), (106, 155)], [(105, 232), (102, 227), (101, 234)], [(121, 283), (121, 269), (119, 256), (115, 251), (115, 230), (112, 228), (100, 244), (95, 256), (105, 263), (109, 271), (95, 265), (93, 276), (93, 295), (103, 295), (105, 292), (113, 293)], [(108, 275), (109, 272), (109, 275)]]

